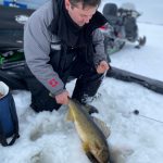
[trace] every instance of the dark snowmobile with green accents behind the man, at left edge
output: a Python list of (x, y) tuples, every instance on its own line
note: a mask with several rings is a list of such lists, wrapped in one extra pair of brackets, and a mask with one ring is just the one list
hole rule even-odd
[(11, 89), (27, 89), (23, 80), (23, 30), (24, 23), (35, 10), (0, 5), (0, 80)]

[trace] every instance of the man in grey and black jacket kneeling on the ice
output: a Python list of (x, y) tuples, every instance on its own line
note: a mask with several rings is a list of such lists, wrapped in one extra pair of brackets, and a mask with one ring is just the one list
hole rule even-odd
[[(110, 68), (99, 27), (101, 0), (50, 0), (29, 17), (24, 32), (25, 80), (36, 112), (68, 103), (65, 85), (77, 78), (72, 98), (91, 101)], [(51, 96), (49, 96), (49, 93)], [(97, 112), (92, 108), (90, 113)]]

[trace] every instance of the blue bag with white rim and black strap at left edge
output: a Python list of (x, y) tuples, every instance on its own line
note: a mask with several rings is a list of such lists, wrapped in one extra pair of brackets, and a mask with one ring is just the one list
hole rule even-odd
[[(7, 138), (10, 138), (10, 142)], [(18, 118), (15, 103), (9, 87), (0, 82), (0, 143), (2, 146), (12, 146), (18, 135)]]

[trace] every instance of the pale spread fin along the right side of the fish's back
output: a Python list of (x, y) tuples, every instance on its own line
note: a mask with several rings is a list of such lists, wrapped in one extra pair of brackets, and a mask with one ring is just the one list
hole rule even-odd
[(96, 123), (96, 125), (101, 129), (104, 137), (109, 138), (111, 134), (111, 129), (106, 126), (106, 124), (98, 117), (95, 117), (95, 116), (91, 116), (91, 117), (92, 117), (92, 121)]

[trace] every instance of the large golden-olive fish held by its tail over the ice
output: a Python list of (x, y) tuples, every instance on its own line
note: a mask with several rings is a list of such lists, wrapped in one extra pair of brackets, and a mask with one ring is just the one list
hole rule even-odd
[(110, 152), (106, 137), (110, 130), (106, 125), (90, 116), (84, 105), (72, 99), (70, 99), (68, 108), (67, 121), (74, 122), (87, 156), (89, 159), (92, 156), (98, 163), (109, 163)]

